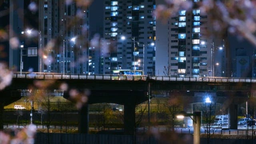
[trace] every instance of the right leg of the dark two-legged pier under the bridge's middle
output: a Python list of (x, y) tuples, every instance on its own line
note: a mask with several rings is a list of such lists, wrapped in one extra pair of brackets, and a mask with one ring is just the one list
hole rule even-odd
[(135, 132), (135, 105), (124, 104), (124, 134), (134, 135), (134, 132)]

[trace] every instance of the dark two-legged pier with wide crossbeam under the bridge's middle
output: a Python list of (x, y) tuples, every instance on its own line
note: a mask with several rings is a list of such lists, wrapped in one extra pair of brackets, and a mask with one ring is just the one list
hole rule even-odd
[[(69, 92), (64, 92), (64, 98), (71, 100)], [(148, 92), (138, 90), (90, 90), (88, 101), (79, 110), (79, 132), (88, 133), (89, 104), (116, 103), (124, 105), (124, 134), (135, 132), (135, 106), (148, 100)]]

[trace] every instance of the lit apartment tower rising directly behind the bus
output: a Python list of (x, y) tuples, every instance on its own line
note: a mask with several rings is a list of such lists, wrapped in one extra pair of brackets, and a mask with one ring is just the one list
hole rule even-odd
[(155, 75), (155, 6), (155, 0), (104, 0), (104, 74), (130, 69)]

